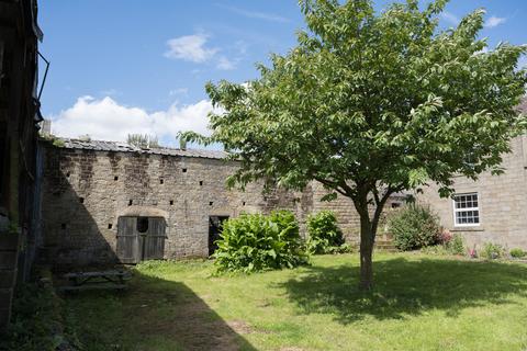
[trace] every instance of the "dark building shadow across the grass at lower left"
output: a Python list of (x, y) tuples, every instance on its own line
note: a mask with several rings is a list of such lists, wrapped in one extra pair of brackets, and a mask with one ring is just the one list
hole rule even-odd
[[(187, 285), (134, 271), (125, 292), (66, 298), (83, 350), (256, 350)], [(235, 330), (236, 329), (236, 330)]]

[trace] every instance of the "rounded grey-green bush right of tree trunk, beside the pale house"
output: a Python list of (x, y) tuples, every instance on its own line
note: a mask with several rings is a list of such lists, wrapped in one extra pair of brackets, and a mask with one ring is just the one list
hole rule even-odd
[(416, 250), (438, 242), (438, 217), (427, 206), (408, 204), (390, 215), (388, 226), (401, 251)]

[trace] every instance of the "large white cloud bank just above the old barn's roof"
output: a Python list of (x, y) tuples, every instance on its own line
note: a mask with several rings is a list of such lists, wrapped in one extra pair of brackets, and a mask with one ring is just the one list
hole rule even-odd
[[(119, 104), (113, 99), (82, 97), (69, 109), (52, 115), (52, 132), (63, 137), (90, 135), (93, 139), (125, 141), (128, 134), (152, 134), (173, 140), (179, 131), (210, 135), (208, 114), (211, 101), (195, 104), (172, 104), (167, 111), (148, 113), (141, 107)], [(214, 110), (218, 112), (220, 110)]]

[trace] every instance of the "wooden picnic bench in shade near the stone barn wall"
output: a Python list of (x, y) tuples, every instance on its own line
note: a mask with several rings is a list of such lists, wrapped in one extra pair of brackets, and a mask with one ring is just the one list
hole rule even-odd
[(126, 281), (132, 278), (127, 271), (75, 272), (64, 274), (69, 285), (61, 286), (61, 292), (85, 290), (124, 290)]

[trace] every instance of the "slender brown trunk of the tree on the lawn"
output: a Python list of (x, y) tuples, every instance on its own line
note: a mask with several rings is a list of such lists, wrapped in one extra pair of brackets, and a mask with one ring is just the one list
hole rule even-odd
[(373, 287), (373, 264), (371, 257), (373, 253), (374, 234), (371, 233), (370, 218), (368, 211), (366, 218), (360, 214), (360, 283), (359, 287), (363, 291), (370, 291)]

